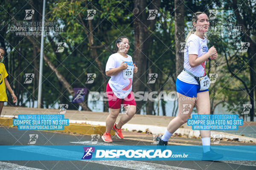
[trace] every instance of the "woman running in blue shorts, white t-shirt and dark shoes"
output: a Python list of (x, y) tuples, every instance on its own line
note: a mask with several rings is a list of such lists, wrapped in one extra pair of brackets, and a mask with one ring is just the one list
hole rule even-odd
[[(209, 19), (204, 12), (196, 12), (192, 16), (193, 28), (186, 37), (184, 50), (184, 70), (176, 79), (178, 95), (178, 114), (167, 126), (163, 136), (159, 137), (159, 145), (167, 145), (172, 134), (190, 118), (195, 105), (198, 114), (210, 114), (209, 85), (210, 80), (205, 73), (207, 61), (218, 57), (217, 50), (207, 47), (206, 32), (209, 28)], [(201, 81), (199, 77), (204, 77)], [(183, 113), (183, 106), (187, 106), (189, 113)], [(189, 107), (190, 106), (190, 107)], [(222, 158), (221, 154), (210, 149), (210, 130), (200, 130), (203, 157), (212, 160)]]

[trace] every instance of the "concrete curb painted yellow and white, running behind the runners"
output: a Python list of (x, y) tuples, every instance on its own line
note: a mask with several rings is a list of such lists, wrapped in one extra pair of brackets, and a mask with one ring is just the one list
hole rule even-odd
[[(15, 116), (16, 117), (16, 116)], [(10, 116), (4, 116), (0, 119), (0, 125), (3, 126), (13, 126), (13, 120), (10, 118)], [(97, 121), (81, 121), (81, 120), (69, 120), (70, 125), (65, 126), (64, 130), (55, 130), (58, 132), (71, 132), (71, 133), (79, 133), (79, 134), (99, 134), (103, 135), (106, 131), (106, 122), (97, 122)], [(166, 130), (166, 127), (163, 126), (154, 126), (154, 125), (139, 125), (139, 124), (125, 124), (122, 126), (122, 129), (126, 129), (129, 131), (132, 130), (141, 130), (145, 132), (146, 130), (150, 131), (153, 134), (161, 134), (164, 133)], [(54, 130), (53, 130), (54, 131)], [(175, 133), (180, 133), (181, 135), (188, 135), (189, 138), (192, 137), (200, 137), (200, 131), (199, 130), (192, 130), (189, 128), (179, 128), (175, 131)], [(113, 130), (111, 130), (111, 135), (114, 135), (115, 133)], [(223, 138), (227, 139), (236, 139), (238, 138), (239, 142), (256, 142), (256, 138), (251, 138), (247, 136), (240, 136), (235, 135), (231, 133), (224, 133), (224, 132), (218, 132), (218, 131), (211, 131), (211, 134), (221, 134)]]

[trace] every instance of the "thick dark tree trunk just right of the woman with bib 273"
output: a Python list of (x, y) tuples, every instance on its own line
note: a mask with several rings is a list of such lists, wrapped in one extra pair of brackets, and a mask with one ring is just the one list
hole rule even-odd
[[(160, 12), (161, 0), (153, 0), (149, 5), (148, 9), (157, 9)], [(154, 20), (147, 20), (149, 14), (145, 12), (145, 8), (147, 6), (147, 2), (145, 0), (135, 0), (134, 2), (134, 63), (138, 67), (137, 74), (134, 75), (133, 79), (133, 91), (136, 93), (137, 91), (145, 91), (147, 89), (147, 82), (146, 79), (148, 75), (145, 74), (146, 72), (146, 65), (145, 61), (148, 60), (148, 47), (151, 46), (154, 35), (154, 28), (156, 23), (156, 18)], [(152, 33), (153, 32), (153, 33)], [(146, 41), (145, 41), (146, 40)], [(147, 114), (152, 114), (152, 103), (147, 101), (151, 111), (147, 110)], [(143, 102), (136, 102), (137, 104), (137, 114), (140, 114), (142, 109)]]

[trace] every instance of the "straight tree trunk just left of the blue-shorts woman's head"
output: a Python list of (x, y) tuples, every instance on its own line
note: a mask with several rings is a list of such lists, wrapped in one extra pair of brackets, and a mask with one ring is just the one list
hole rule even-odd
[(175, 55), (176, 55), (176, 77), (183, 70), (184, 53), (180, 51), (180, 42), (185, 42), (185, 19), (184, 19), (184, 3), (183, 0), (175, 0)]

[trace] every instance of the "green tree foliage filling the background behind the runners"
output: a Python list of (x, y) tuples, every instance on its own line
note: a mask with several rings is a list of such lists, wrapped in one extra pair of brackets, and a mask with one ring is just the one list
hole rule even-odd
[[(148, 6), (143, 12), (148, 15)], [(241, 14), (244, 30), (237, 36), (210, 35), (208, 47), (212, 45), (218, 51), (218, 60), (207, 63), (207, 73), (218, 73), (215, 84), (210, 86), (211, 112), (218, 105), (227, 107), (232, 113), (241, 113), (242, 104), (255, 101), (255, 51), (239, 53), (240, 42), (251, 40), (250, 49), (255, 48), (255, 2), (250, 0), (186, 0), (185, 32), (192, 26), (191, 16), (196, 11), (209, 14), (209, 9), (221, 11), (216, 17), (219, 20), (239, 21), (235, 13), (235, 4)], [(152, 32), (152, 43), (148, 46), (145, 60), (146, 72), (157, 73), (158, 79), (150, 85), (152, 91), (175, 91), (175, 22), (174, 1), (161, 1), (156, 17), (155, 30)], [(9, 82), (17, 94), (17, 105), (25, 106), (27, 102), (37, 100), (38, 67), (40, 53), (35, 51), (28, 37), (15, 37), (10, 32), (14, 21), (21, 21), (25, 9), (34, 9), (34, 21), (42, 19), (42, 2), (31, 0), (17, 2), (14, 0), (1, 3), (0, 45), (6, 49), (3, 63), (9, 73)], [(93, 20), (86, 20), (87, 10), (95, 9)], [(134, 1), (130, 0), (49, 0), (46, 3), (46, 21), (57, 21), (65, 31), (59, 37), (45, 37), (44, 53), (55, 65), (60, 74), (70, 83), (72, 88), (86, 87), (89, 91), (105, 91), (109, 77), (105, 76), (105, 65), (108, 57), (116, 51), (115, 41), (119, 36), (127, 36), (130, 40), (129, 54), (134, 57)], [(231, 12), (231, 14), (230, 14)], [(140, 21), (145, 23), (147, 21)], [(241, 23), (239, 23), (241, 25)], [(92, 31), (90, 31), (90, 27)], [(145, 30), (146, 31), (146, 30)], [(246, 32), (246, 34), (245, 34)], [(186, 37), (186, 35), (185, 35)], [(40, 45), (41, 37), (31, 37)], [(55, 53), (57, 42), (66, 42), (63, 53)], [(43, 97), (45, 108), (53, 108), (56, 103), (70, 103), (70, 93), (44, 62)], [(139, 68), (140, 70), (140, 68)], [(26, 73), (35, 73), (32, 84), (23, 84)], [(86, 84), (87, 73), (96, 73), (93, 84)], [(146, 84), (143, 78), (141, 83)], [(145, 90), (147, 90), (145, 88)], [(253, 91), (253, 92), (252, 92)], [(9, 101), (10, 95), (9, 96)], [(161, 101), (163, 102), (163, 101)], [(146, 104), (147, 102), (144, 102)], [(165, 102), (166, 103), (166, 102)], [(9, 103), (12, 105), (12, 103)], [(158, 103), (159, 104), (159, 103)], [(108, 105), (105, 103), (105, 105)], [(78, 109), (78, 104), (70, 104), (69, 109)], [(176, 107), (177, 108), (177, 105)], [(175, 113), (175, 108), (166, 108)], [(153, 113), (158, 114), (157, 110)]]

